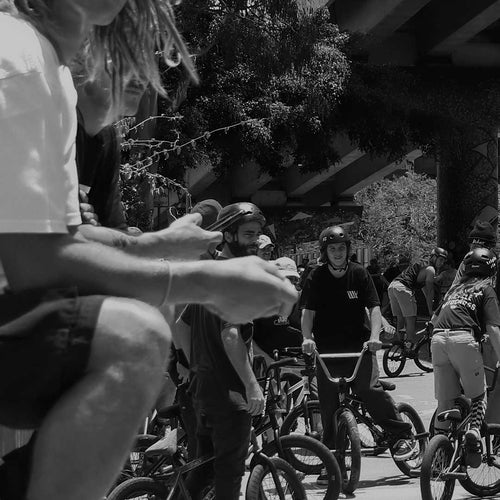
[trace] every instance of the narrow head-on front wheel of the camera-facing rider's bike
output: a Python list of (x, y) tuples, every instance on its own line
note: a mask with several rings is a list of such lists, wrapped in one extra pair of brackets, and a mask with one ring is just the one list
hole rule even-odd
[(356, 418), (349, 410), (338, 416), (335, 457), (342, 474), (342, 491), (353, 493), (361, 471), (361, 441)]

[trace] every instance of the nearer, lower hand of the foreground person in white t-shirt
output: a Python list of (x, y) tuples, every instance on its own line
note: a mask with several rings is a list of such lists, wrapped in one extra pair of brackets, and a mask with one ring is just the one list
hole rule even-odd
[[(200, 262), (202, 264), (202, 262)], [(255, 318), (290, 316), (297, 290), (278, 268), (256, 256), (203, 262), (207, 309), (225, 321), (247, 323)]]

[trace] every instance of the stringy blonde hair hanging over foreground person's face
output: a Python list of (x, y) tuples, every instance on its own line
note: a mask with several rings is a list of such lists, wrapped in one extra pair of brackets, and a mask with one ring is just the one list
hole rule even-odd
[(166, 97), (159, 69), (182, 64), (189, 77), (198, 76), (187, 47), (175, 26), (169, 0), (128, 0), (108, 26), (94, 26), (81, 54), (87, 79), (105, 71), (111, 78), (112, 110), (119, 113), (125, 86), (130, 80), (150, 85)]

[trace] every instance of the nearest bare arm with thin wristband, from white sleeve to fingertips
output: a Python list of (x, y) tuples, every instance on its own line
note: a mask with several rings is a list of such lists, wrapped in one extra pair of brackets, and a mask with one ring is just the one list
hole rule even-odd
[(297, 300), (276, 266), (258, 257), (169, 264), (88, 242), (78, 231), (1, 234), (0, 258), (14, 292), (76, 286), (153, 305), (199, 303), (235, 323), (288, 315)]

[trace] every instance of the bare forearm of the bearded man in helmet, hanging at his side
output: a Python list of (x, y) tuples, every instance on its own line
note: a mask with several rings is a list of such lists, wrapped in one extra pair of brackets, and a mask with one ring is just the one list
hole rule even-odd
[(260, 415), (264, 410), (264, 396), (250, 365), (247, 348), (239, 328), (237, 326), (224, 328), (221, 338), (227, 357), (245, 386), (248, 412), (251, 415)]

